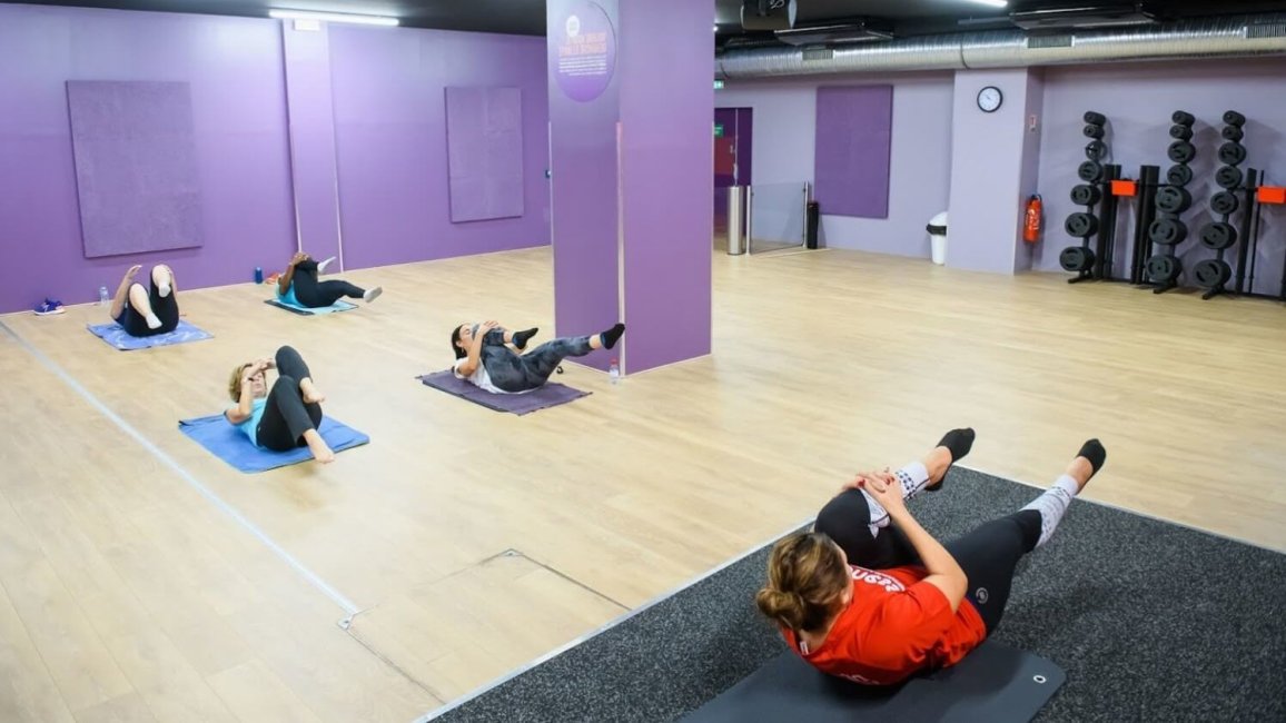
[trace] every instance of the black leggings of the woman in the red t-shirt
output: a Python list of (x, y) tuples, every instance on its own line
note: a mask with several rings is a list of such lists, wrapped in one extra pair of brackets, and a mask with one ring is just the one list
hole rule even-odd
[[(895, 525), (871, 534), (871, 509), (858, 490), (845, 490), (822, 508), (814, 529), (836, 542), (849, 562), (871, 570), (919, 565), (916, 548)], [(1001, 624), (1010, 601), (1013, 570), (1024, 554), (1040, 539), (1040, 513), (1021, 509), (992, 520), (957, 538), (945, 547), (968, 578), (966, 599), (974, 605), (986, 632)]]

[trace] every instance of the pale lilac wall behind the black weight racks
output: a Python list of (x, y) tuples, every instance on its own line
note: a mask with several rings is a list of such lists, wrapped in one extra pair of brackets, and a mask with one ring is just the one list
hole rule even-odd
[[(1196, 243), (1201, 225), (1210, 220), (1209, 199), (1218, 187), (1215, 153), (1222, 143), (1223, 112), (1246, 114), (1245, 145), (1247, 162), (1242, 167), (1268, 169), (1269, 180), (1286, 184), (1286, 58), (1246, 60), (1201, 60), (1183, 64), (1129, 63), (1119, 66), (1047, 68), (1044, 73), (1044, 133), (1040, 152), (1040, 193), (1046, 207), (1046, 237), (1037, 250), (1035, 268), (1065, 273), (1058, 268), (1058, 252), (1073, 239), (1062, 230), (1074, 207), (1067, 198), (1076, 179), (1076, 166), (1085, 160), (1087, 139), (1080, 134), (1082, 114), (1100, 111), (1109, 118), (1107, 143), (1114, 163), (1124, 175), (1136, 178), (1141, 165), (1156, 165), (1161, 174), (1170, 166), (1165, 149), (1170, 144), (1170, 113), (1184, 109), (1197, 117), (1193, 142), (1196, 176), (1188, 185), (1193, 208), (1183, 214), (1190, 237), (1179, 246), (1184, 269), (1214, 257)], [(1133, 242), (1134, 202), (1121, 205), (1114, 273), (1124, 275)], [(1240, 217), (1240, 216), (1238, 216)], [(1236, 247), (1232, 250), (1236, 251)], [(1286, 257), (1286, 208), (1264, 208), (1255, 291), (1278, 293), (1282, 262)], [(1184, 280), (1184, 279), (1181, 279)]]

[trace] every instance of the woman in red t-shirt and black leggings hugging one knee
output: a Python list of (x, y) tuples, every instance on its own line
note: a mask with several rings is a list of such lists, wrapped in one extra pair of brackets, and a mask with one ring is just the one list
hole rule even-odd
[(923, 462), (859, 473), (822, 508), (814, 531), (773, 547), (755, 602), (804, 660), (877, 686), (959, 663), (999, 624), (1019, 560), (1049, 539), (1107, 457), (1098, 440), (1087, 441), (1031, 504), (944, 547), (905, 500), (937, 489), (972, 444), (972, 430), (953, 430)]

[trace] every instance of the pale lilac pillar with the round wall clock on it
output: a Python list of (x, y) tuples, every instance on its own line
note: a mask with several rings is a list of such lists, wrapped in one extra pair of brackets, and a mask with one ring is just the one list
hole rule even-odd
[[(955, 73), (952, 124), (950, 217), (946, 264), (976, 271), (1013, 273), (1022, 220), (1028, 69)], [(986, 86), (1004, 102), (994, 113), (977, 107)]]

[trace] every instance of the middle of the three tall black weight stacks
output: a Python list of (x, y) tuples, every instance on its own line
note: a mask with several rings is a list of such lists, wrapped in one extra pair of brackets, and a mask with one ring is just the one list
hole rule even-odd
[(1197, 156), (1192, 144), (1192, 125), (1196, 117), (1186, 111), (1175, 111), (1170, 116), (1170, 138), (1174, 139), (1166, 149), (1166, 156), (1174, 162), (1165, 172), (1165, 185), (1156, 189), (1156, 219), (1147, 230), (1148, 239), (1163, 248), (1147, 260), (1147, 280), (1152, 293), (1164, 293), (1178, 286), (1183, 262), (1175, 253), (1175, 247), (1188, 237), (1188, 226), (1182, 215), (1192, 207), (1192, 193), (1187, 185), (1192, 183), (1190, 163)]

